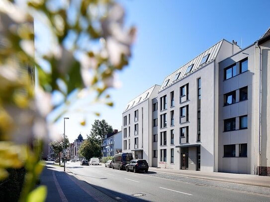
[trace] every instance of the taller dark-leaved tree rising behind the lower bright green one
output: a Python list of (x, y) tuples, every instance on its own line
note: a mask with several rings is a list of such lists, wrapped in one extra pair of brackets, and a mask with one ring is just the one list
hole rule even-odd
[(103, 142), (105, 135), (111, 134), (113, 132), (112, 127), (104, 120), (94, 120), (92, 124), (90, 135), (94, 136)]

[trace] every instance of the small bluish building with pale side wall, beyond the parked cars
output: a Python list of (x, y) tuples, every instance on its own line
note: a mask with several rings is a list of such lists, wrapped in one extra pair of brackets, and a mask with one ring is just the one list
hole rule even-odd
[(101, 146), (103, 157), (114, 156), (114, 154), (122, 152), (122, 132), (114, 130), (113, 133), (105, 135)]

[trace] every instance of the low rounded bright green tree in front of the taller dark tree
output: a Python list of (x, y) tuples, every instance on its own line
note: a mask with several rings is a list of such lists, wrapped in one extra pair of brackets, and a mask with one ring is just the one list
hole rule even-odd
[(84, 156), (86, 159), (90, 159), (92, 157), (100, 157), (101, 156), (101, 140), (87, 135), (87, 139), (82, 143), (79, 154)]

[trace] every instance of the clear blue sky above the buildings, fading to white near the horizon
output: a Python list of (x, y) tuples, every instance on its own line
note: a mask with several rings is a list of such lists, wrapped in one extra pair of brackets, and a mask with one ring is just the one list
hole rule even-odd
[[(222, 39), (245, 48), (270, 27), (270, 0), (120, 0), (126, 25), (137, 28), (129, 66), (118, 73), (122, 87), (109, 91), (114, 107), (85, 106), (87, 113), (67, 113), (66, 135), (74, 141), (90, 134), (94, 119), (121, 130), (127, 103)], [(95, 117), (90, 111), (98, 111)], [(81, 127), (79, 122), (86, 119)], [(61, 133), (64, 121), (57, 123)]]

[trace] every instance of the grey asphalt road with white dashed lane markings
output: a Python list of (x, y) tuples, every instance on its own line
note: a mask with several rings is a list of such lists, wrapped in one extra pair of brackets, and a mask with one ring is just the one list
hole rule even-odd
[(117, 201), (270, 202), (270, 188), (156, 172), (132, 173), (103, 165), (66, 164), (67, 171)]

